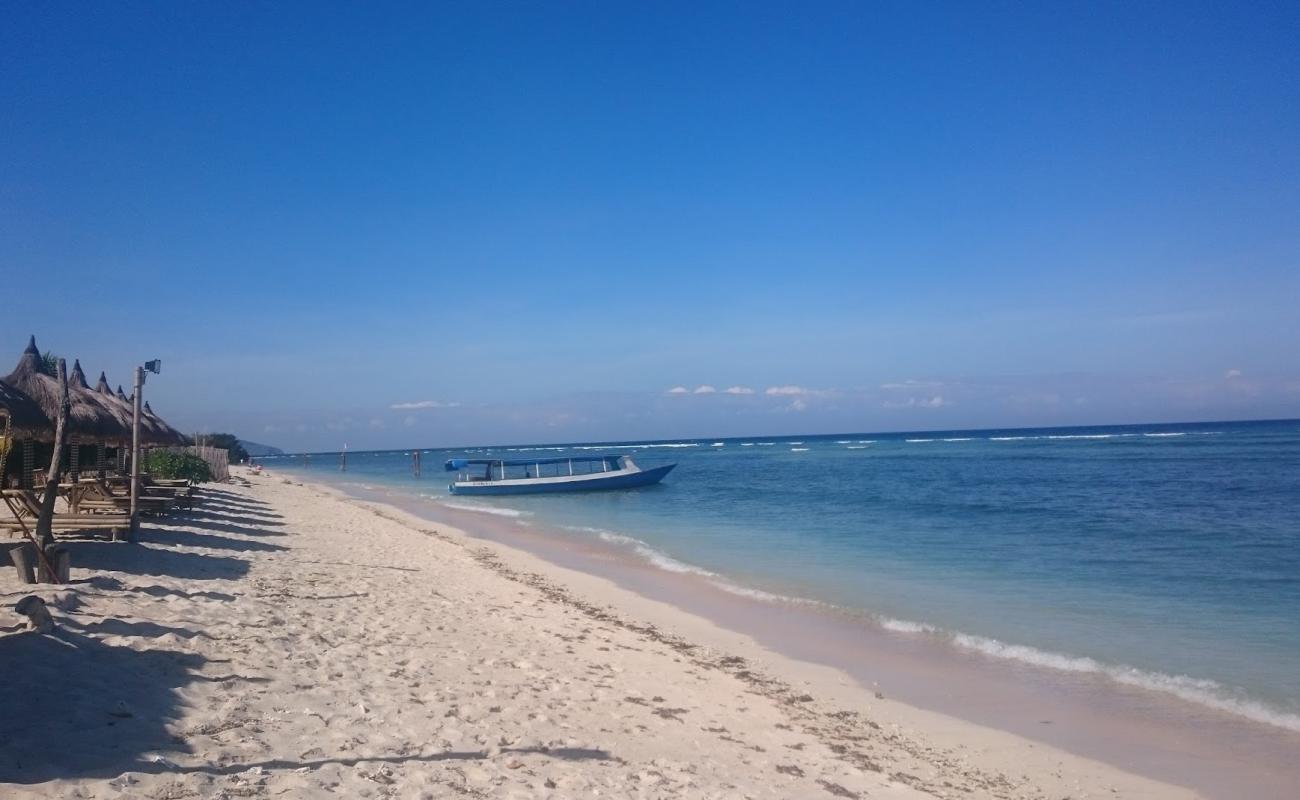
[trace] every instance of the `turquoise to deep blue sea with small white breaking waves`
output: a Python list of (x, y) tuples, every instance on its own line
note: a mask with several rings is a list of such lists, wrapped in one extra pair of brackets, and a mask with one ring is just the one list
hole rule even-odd
[[(1300, 421), (348, 454), (346, 480), (1300, 730)], [(632, 453), (659, 487), (459, 498), (452, 457)], [(339, 480), (338, 455), (263, 459)]]

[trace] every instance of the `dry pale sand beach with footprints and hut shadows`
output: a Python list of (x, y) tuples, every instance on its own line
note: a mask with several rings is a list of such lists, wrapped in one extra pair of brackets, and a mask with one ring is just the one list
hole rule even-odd
[[(240, 471), (243, 473), (243, 471)], [(4, 797), (1191, 797), (264, 473), (0, 618)]]

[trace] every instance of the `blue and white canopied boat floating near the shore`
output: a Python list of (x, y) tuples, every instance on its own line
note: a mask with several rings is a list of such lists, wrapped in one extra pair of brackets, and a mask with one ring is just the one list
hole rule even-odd
[(447, 462), (447, 472), (458, 473), (448, 487), (452, 494), (533, 494), (649, 487), (663, 480), (676, 466), (642, 470), (630, 455), (528, 460), (452, 458)]

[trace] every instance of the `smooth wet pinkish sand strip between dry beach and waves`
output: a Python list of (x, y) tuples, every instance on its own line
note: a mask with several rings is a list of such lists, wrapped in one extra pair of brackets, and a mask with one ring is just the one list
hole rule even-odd
[[(460, 513), (454, 505), (387, 488), (374, 487), (369, 490), (374, 497), (363, 498), (328, 483), (316, 485), (356, 502), (394, 507), (413, 522), (455, 524), (471, 536), (521, 549), (552, 568), (567, 570), (567, 580), (575, 575), (608, 580), (636, 597), (748, 636), (772, 653), (842, 671), (864, 691), (881, 688), (918, 710), (1192, 786), (1205, 796), (1228, 797), (1249, 787), (1252, 796), (1288, 797), (1297, 779), (1294, 764), (1300, 735), (1175, 693), (1124, 684), (1105, 673), (1061, 671), (961, 652), (924, 635), (835, 619), (822, 607), (783, 606), (720, 588), (702, 591), (710, 581), (698, 575), (628, 565), (611, 559), (602, 548), (547, 536), (545, 527)], [(428, 514), (434, 510), (430, 506), (437, 507), (437, 516)], [(949, 686), (959, 688), (944, 688)]]

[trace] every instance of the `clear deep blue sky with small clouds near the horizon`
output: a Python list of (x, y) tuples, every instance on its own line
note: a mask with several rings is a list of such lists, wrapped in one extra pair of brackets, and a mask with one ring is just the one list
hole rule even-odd
[(1295, 3), (0, 21), (0, 343), (185, 431), (1300, 416)]

